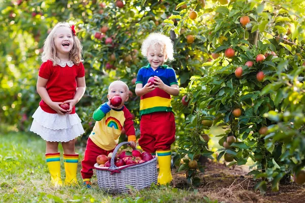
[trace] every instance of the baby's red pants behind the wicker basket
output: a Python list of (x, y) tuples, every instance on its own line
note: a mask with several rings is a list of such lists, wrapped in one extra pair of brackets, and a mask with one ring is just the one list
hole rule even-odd
[[(114, 150), (114, 149), (113, 149)], [(106, 151), (100, 147), (98, 147), (90, 138), (87, 140), (87, 146), (85, 150), (84, 160), (81, 161), (81, 177), (82, 179), (91, 178), (93, 176), (93, 168), (94, 164), (97, 162), (97, 157), (101, 154), (108, 154), (111, 151)]]

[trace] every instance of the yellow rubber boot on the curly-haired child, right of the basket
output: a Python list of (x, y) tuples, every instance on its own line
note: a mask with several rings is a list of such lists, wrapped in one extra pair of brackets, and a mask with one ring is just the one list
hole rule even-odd
[(166, 185), (173, 180), (170, 169), (171, 152), (170, 150), (157, 151), (157, 155), (159, 161), (158, 184)]

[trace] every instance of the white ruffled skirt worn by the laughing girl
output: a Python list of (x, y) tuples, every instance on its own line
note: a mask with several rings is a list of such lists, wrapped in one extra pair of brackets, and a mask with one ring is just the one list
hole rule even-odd
[(84, 133), (81, 120), (75, 114), (50, 114), (38, 107), (29, 130), (49, 142), (69, 142)]

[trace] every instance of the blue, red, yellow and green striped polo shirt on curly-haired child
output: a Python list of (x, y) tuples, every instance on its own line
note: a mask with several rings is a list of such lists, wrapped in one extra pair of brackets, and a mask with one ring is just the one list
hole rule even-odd
[[(138, 71), (136, 84), (142, 83), (143, 86), (147, 83), (150, 77), (158, 76), (164, 84), (171, 86), (177, 85), (177, 77), (175, 71), (167, 65), (161, 65), (155, 71), (147, 66), (141, 67)], [(140, 116), (153, 112), (171, 112), (171, 95), (167, 92), (156, 88), (154, 91), (148, 92), (141, 96), (140, 100)]]

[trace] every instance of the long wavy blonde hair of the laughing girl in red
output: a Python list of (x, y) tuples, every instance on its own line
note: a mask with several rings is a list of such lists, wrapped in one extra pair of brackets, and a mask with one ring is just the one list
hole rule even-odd
[(51, 60), (53, 62), (53, 65), (57, 65), (60, 62), (60, 58), (56, 52), (55, 47), (55, 32), (58, 27), (69, 27), (71, 29), (72, 38), (73, 38), (73, 47), (70, 51), (70, 60), (74, 64), (79, 64), (81, 61), (81, 52), (82, 52), (82, 45), (80, 44), (79, 39), (73, 35), (72, 28), (67, 22), (59, 22), (55, 25), (55, 27), (52, 29), (52, 31), (49, 33), (47, 39), (44, 42), (43, 46), (43, 53), (41, 56), (41, 59), (43, 62), (46, 62), (47, 60)]

